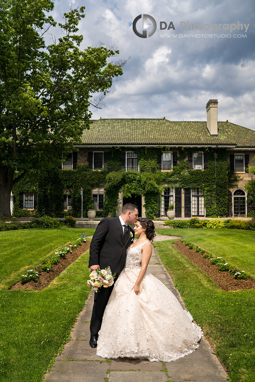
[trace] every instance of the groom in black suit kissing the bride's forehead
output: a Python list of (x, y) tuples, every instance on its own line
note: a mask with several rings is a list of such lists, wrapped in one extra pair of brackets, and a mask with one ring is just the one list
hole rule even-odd
[[(135, 224), (138, 217), (138, 207), (127, 203), (123, 206), (119, 217), (102, 219), (96, 227), (90, 243), (90, 272), (95, 269), (111, 268), (116, 274), (114, 282), (124, 268), (127, 247), (133, 243), (134, 230), (128, 224)], [(98, 332), (101, 328), (103, 314), (113, 286), (100, 288), (94, 297), (94, 305), (90, 320), (90, 346), (96, 348)]]

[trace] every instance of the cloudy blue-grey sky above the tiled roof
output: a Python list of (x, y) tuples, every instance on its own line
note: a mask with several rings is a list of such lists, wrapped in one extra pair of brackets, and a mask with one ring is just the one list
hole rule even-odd
[[(219, 121), (255, 130), (255, 2), (55, 0), (56, 21), (71, 4), (85, 6), (82, 49), (103, 42), (115, 45), (119, 58), (130, 57), (105, 107), (94, 109), (93, 118), (204, 121), (206, 103), (218, 99)], [(132, 29), (141, 14), (157, 23), (147, 38)], [(163, 26), (172, 21), (175, 30), (160, 30), (160, 21)], [(142, 33), (142, 19), (136, 27)], [(152, 25), (147, 27), (151, 30)]]

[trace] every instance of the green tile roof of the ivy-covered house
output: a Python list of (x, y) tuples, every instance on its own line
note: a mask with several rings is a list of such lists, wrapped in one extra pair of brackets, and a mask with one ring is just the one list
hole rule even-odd
[(230, 122), (218, 122), (218, 136), (211, 136), (206, 121), (168, 121), (164, 118), (100, 118), (84, 130), (82, 143), (121, 144), (198, 144), (255, 147), (255, 131)]

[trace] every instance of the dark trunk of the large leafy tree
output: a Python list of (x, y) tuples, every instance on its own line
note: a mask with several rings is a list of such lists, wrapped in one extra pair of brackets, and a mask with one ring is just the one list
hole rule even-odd
[(11, 189), (13, 179), (9, 176), (6, 168), (0, 168), (0, 217), (11, 217)]

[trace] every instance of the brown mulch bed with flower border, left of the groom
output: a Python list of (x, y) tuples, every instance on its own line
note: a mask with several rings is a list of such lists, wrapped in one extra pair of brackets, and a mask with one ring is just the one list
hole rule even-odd
[(49, 283), (54, 280), (55, 277), (59, 276), (60, 273), (72, 264), (80, 255), (87, 251), (90, 247), (90, 241), (82, 243), (78, 248), (72, 250), (72, 253), (67, 253), (65, 259), (60, 257), (59, 264), (53, 264), (49, 273), (42, 272), (38, 277), (37, 281), (29, 281), (28, 283), (17, 282), (15, 285), (11, 286), (9, 289), (29, 289), (29, 290), (43, 290)]

